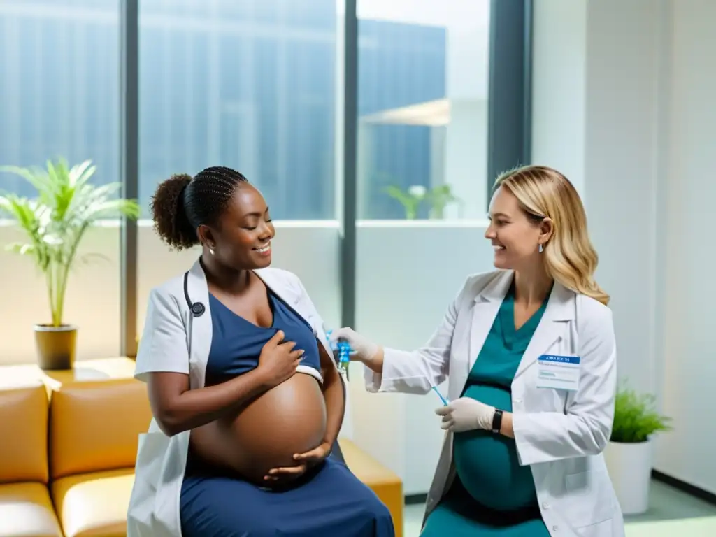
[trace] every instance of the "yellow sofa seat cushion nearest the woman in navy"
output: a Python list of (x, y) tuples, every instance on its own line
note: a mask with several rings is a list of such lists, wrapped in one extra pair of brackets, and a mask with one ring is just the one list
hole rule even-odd
[(125, 537), (134, 468), (70, 475), (52, 483), (65, 537)]

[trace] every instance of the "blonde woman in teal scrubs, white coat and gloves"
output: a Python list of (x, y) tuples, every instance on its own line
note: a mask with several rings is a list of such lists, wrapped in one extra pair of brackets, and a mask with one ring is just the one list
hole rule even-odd
[(616, 391), (609, 297), (579, 195), (561, 173), (528, 166), (495, 183), (498, 269), (468, 277), (435, 334), (413, 352), (352, 329), (367, 390), (425, 394), (447, 430), (422, 537), (622, 537), (601, 455)]

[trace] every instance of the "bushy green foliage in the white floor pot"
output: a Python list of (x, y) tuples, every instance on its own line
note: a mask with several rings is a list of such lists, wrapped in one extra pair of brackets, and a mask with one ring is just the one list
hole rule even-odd
[(660, 415), (656, 397), (638, 394), (624, 382), (616, 393), (612, 442), (646, 442), (656, 432), (672, 430), (671, 418)]

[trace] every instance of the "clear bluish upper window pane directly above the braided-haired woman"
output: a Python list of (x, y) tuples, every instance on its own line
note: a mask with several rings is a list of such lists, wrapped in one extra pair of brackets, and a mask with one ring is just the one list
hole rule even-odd
[(336, 218), (342, 24), (335, 0), (141, 1), (145, 211), (173, 173), (226, 165), (275, 220)]

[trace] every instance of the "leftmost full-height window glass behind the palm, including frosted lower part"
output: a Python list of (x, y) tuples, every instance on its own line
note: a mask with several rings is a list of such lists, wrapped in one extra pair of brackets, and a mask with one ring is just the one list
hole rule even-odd
[[(69, 165), (92, 160), (95, 185), (120, 179), (119, 0), (0, 1), (0, 165)], [(37, 190), (0, 173), (0, 191)], [(29, 256), (7, 253), (27, 236), (0, 214), (4, 300), (0, 363), (34, 362), (33, 324), (51, 320), (46, 280)], [(89, 228), (69, 274), (64, 324), (78, 327), (77, 357), (120, 351), (120, 233), (117, 222)], [(84, 263), (82, 261), (88, 261)]]

